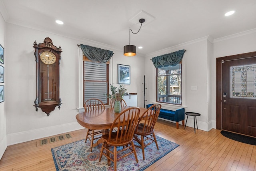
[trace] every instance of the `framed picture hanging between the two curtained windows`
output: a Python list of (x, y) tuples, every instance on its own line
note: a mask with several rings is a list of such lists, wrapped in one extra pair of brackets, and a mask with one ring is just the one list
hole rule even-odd
[(130, 66), (117, 64), (118, 67), (118, 84), (131, 84)]

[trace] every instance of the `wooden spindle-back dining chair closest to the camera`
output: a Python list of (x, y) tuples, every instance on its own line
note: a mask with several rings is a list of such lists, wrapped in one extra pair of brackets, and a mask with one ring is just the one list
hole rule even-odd
[[(116, 171), (117, 161), (132, 153), (134, 153), (136, 162), (138, 163), (138, 158), (137, 158), (135, 146), (133, 143), (133, 134), (134, 134), (136, 125), (138, 123), (139, 115), (140, 115), (139, 107), (129, 107), (128, 109), (121, 111), (121, 113), (119, 113), (114, 119), (110, 127), (109, 134), (101, 136), (103, 140), (103, 144), (100, 151), (100, 161), (101, 161), (102, 155), (106, 156), (108, 159), (108, 165), (110, 165), (110, 161), (114, 162), (115, 171)], [(113, 131), (114, 127), (118, 128), (117, 131)], [(125, 128), (129, 128), (129, 129), (125, 129)], [(110, 148), (111, 146), (114, 146), (114, 149)], [(118, 146), (123, 146), (123, 148), (117, 151)], [(130, 149), (130, 151), (126, 151), (127, 149)], [(104, 150), (106, 150), (106, 153), (104, 153)], [(122, 151), (126, 151), (128, 153), (117, 158), (117, 154)], [(114, 159), (110, 157), (110, 153), (112, 154)]]

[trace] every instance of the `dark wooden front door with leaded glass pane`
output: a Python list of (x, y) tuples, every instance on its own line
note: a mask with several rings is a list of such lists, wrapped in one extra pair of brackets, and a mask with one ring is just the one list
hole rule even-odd
[(256, 137), (256, 56), (222, 60), (222, 129)]

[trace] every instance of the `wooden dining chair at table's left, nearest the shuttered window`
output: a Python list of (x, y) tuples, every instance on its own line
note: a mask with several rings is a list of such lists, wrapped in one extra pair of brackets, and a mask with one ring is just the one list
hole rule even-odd
[[(97, 110), (97, 109), (105, 109), (105, 105), (100, 99), (88, 99), (84, 103), (84, 111)], [(89, 139), (91, 141), (91, 151), (92, 151), (93, 141), (95, 139), (100, 138), (100, 136), (98, 136), (96, 138), (94, 136), (98, 135), (100, 133), (102, 133), (102, 130), (100, 130), (100, 131), (96, 131), (94, 129), (87, 130), (85, 142), (87, 141), (87, 139)]]

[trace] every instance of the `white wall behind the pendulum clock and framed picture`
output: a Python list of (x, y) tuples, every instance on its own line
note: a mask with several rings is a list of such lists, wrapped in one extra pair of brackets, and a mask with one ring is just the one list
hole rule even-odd
[[(92, 44), (86, 40), (75, 40), (56, 34), (33, 30), (14, 24), (6, 24), (6, 126), (7, 144), (15, 144), (67, 131), (81, 129), (76, 121), (79, 108), (79, 60), (77, 44), (87, 44), (112, 50), (113, 65), (110, 80), (117, 84), (117, 64), (130, 65), (131, 84), (125, 85), (128, 92), (138, 93), (138, 105), (143, 104), (142, 82), (144, 57), (124, 57), (122, 51)], [(33, 43), (42, 43), (46, 37), (55, 46), (62, 47), (60, 61), (60, 98), (62, 105), (47, 117), (41, 109), (36, 113), (36, 62)], [(94, 42), (95, 43), (95, 42)], [(80, 59), (79, 59), (80, 58)], [(131, 60), (132, 59), (132, 60)], [(113, 78), (112, 78), (113, 77)], [(82, 97), (82, 96), (81, 96)]]

